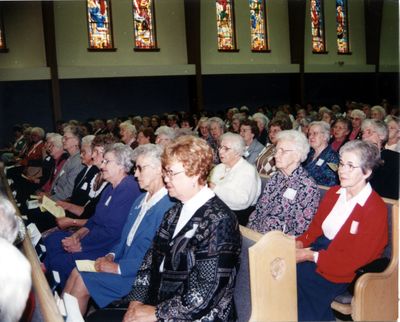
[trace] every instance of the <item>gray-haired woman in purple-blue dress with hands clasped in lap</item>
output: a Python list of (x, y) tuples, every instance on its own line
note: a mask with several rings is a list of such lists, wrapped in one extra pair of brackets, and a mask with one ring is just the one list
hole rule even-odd
[(101, 194), (95, 214), (74, 233), (59, 231), (50, 234), (45, 266), (60, 274), (63, 288), (77, 259), (96, 259), (106, 255), (121, 237), (129, 209), (140, 191), (135, 179), (128, 175), (132, 167), (132, 149), (121, 143), (106, 150), (101, 171), (110, 185)]

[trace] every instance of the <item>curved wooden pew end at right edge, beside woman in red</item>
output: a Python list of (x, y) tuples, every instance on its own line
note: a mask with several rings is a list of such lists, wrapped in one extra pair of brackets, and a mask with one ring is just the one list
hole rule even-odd
[[(320, 186), (321, 196), (328, 187)], [(399, 201), (383, 198), (388, 209), (390, 257), (382, 273), (366, 273), (358, 278), (354, 296), (343, 301), (340, 296), (331, 308), (354, 321), (395, 321), (398, 319), (398, 267), (399, 267)], [(387, 250), (385, 250), (386, 253)]]

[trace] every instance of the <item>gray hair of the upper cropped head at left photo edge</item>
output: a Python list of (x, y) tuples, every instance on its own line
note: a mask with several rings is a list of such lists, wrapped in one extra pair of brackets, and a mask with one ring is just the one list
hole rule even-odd
[(18, 234), (15, 208), (10, 201), (0, 195), (0, 238), (13, 243)]

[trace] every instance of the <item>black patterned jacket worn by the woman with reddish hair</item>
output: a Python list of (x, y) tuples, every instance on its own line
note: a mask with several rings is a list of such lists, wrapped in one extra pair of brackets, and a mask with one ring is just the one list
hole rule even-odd
[(215, 196), (172, 238), (181, 208), (178, 203), (165, 214), (126, 300), (155, 305), (159, 321), (234, 321), (236, 217)]

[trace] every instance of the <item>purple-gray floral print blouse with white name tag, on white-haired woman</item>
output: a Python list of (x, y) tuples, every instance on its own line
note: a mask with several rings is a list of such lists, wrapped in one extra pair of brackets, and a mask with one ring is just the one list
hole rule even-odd
[(311, 223), (319, 199), (318, 186), (303, 167), (288, 177), (278, 171), (267, 181), (247, 226), (263, 234), (280, 230), (299, 236)]

